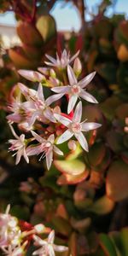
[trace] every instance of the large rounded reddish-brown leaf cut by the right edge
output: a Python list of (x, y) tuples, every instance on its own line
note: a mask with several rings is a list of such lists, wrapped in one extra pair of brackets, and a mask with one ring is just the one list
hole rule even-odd
[(109, 167), (106, 189), (113, 201), (128, 197), (128, 165), (123, 160), (114, 161)]

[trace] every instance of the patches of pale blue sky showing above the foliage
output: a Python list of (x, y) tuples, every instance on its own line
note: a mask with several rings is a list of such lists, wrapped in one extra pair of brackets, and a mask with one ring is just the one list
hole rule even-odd
[[(90, 12), (96, 9), (96, 5), (102, 0), (86, 0), (86, 5)], [(114, 7), (115, 13), (127, 13), (128, 12), (128, 1), (127, 0), (117, 0)], [(113, 14), (113, 9), (108, 9), (108, 15)], [(73, 3), (61, 3), (61, 1), (56, 1), (54, 9), (51, 11), (51, 15), (55, 17), (57, 30), (74, 30), (79, 31), (80, 19), (77, 9), (74, 8)], [(86, 15), (86, 18), (90, 20), (90, 16)], [(15, 15), (13, 13), (6, 13), (0, 15), (0, 24), (7, 24), (10, 26), (15, 25)]]

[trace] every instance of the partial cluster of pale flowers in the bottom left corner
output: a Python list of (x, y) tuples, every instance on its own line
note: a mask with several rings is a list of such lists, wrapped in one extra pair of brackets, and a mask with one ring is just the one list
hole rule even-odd
[[(36, 247), (39, 247), (32, 255), (53, 256), (55, 251), (65, 252), (68, 250), (65, 246), (54, 244), (55, 231), (46, 228), (44, 224), (32, 226), (29, 224), (26, 229), (26, 223), (20, 221), (9, 214), (10, 206), (5, 213), (0, 214), (0, 249), (6, 256), (26, 255), (30, 241)], [(28, 224), (27, 224), (28, 226)], [(41, 235), (49, 233), (46, 239), (41, 239)]]

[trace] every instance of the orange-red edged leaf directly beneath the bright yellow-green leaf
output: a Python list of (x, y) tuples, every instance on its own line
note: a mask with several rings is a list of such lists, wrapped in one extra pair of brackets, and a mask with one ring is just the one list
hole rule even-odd
[(83, 173), (79, 175), (71, 175), (71, 174), (62, 174), (57, 179), (58, 185), (67, 185), (67, 184), (78, 184), (84, 181), (85, 178), (87, 178), (89, 175), (89, 171), (85, 170)]

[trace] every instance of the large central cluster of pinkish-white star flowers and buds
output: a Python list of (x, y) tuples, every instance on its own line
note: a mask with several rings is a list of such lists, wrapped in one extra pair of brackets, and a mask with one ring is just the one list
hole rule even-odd
[[(40, 154), (39, 160), (46, 156), (49, 169), (54, 155), (63, 155), (56, 145), (67, 141), (69, 145), (72, 137), (85, 151), (89, 150), (83, 132), (94, 130), (101, 125), (87, 122), (86, 119), (81, 121), (81, 99), (97, 103), (95, 97), (86, 91), (87, 85), (96, 73), (90, 73), (78, 81), (82, 69), (78, 55), (79, 52), (70, 59), (70, 55), (64, 50), (61, 56), (56, 55), (56, 60), (46, 55), (51, 62), (45, 61), (45, 63), (52, 68), (38, 67), (39, 72), (19, 71), (22, 77), (38, 84), (38, 89), (30, 89), (25, 84), (19, 83), (15, 85), (11, 95), (9, 106), (11, 113), (7, 118), (15, 139), (9, 140), (11, 144), (9, 150), (15, 151), (16, 164), (20, 162), (21, 156), (29, 163), (29, 156)], [(71, 62), (73, 67), (70, 66)], [(52, 92), (55, 94), (45, 98), (44, 87), (47, 88), (47, 94)], [(64, 96), (67, 99), (67, 113), (62, 113), (60, 108), (61, 98)], [(14, 123), (17, 123), (23, 131), (20, 136), (15, 133)]]

